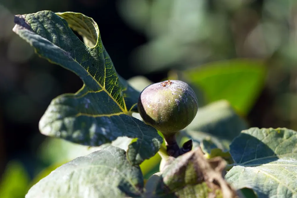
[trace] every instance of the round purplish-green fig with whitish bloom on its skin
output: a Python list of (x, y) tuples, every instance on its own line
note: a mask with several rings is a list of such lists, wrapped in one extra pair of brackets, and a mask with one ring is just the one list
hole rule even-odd
[(168, 80), (151, 84), (143, 89), (138, 98), (138, 112), (143, 121), (165, 137), (189, 125), (197, 110), (197, 97), (183, 81)]

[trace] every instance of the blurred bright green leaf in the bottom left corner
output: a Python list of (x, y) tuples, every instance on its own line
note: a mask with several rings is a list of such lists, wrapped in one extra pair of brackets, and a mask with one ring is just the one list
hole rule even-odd
[(1, 177), (1, 198), (23, 198), (28, 191), (29, 175), (18, 161), (10, 161)]

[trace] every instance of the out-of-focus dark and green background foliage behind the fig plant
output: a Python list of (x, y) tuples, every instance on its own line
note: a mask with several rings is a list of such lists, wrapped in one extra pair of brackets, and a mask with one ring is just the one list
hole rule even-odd
[[(94, 18), (116, 70), (136, 89), (180, 79), (200, 107), (225, 99), (250, 127), (297, 130), (296, 1), (0, 0), (1, 198), (24, 197), (57, 166), (98, 149), (39, 133), (50, 101), (82, 86), (12, 32), (14, 14), (40, 10)], [(146, 178), (159, 161), (141, 165)]]

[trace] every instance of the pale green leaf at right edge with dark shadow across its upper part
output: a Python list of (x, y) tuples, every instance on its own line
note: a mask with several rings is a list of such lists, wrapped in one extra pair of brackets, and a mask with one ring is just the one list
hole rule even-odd
[(233, 140), (233, 168), (226, 180), (236, 189), (252, 188), (258, 197), (297, 197), (297, 132), (250, 128)]

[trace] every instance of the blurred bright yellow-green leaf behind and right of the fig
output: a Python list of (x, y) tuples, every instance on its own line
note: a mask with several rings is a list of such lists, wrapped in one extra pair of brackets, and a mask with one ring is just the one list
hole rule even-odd
[(264, 86), (263, 61), (234, 59), (211, 62), (183, 71), (184, 78), (201, 88), (208, 102), (225, 99), (242, 114), (247, 114)]

